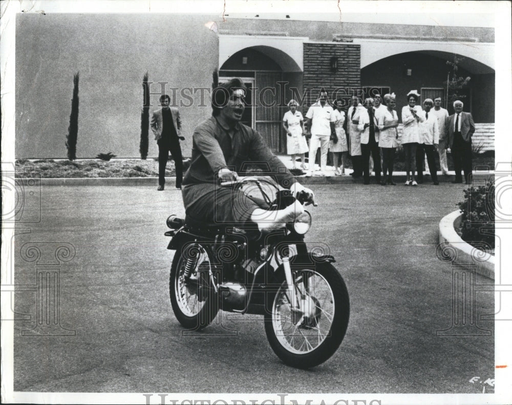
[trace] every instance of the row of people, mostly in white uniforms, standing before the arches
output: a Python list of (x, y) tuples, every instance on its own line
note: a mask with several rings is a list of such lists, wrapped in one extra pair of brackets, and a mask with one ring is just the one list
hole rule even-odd
[[(301, 156), (301, 168), (306, 170), (305, 153), (309, 152), (307, 176), (313, 174), (318, 147), (321, 149), (319, 175), (326, 173), (327, 153), (332, 152), (335, 175), (344, 175), (350, 151), (354, 181), (362, 177), (364, 184), (370, 184), (370, 173), (375, 171), (376, 182), (386, 186), (395, 185), (393, 168), (396, 149), (401, 144), (405, 155), (406, 186), (423, 183), (423, 160), (426, 162), (434, 185), (438, 185), (436, 153), (439, 154), (441, 172), (448, 175), (446, 149), (451, 148), (455, 166), (455, 180), (452, 183), (468, 184), (472, 173), (471, 137), (475, 124), (470, 113), (463, 113), (463, 103), (454, 102), (455, 114), (449, 116), (441, 107), (441, 98), (425, 99), (423, 108), (417, 105), (420, 95), (411, 91), (407, 95), (408, 105), (401, 111), (403, 124), (402, 136), (398, 137), (398, 115), (395, 110), (395, 94), (386, 94), (382, 98), (375, 94), (366, 98), (364, 104), (353, 96), (347, 117), (339, 100), (333, 107), (327, 102), (327, 94), (321, 93), (317, 102), (309, 107), (306, 119), (297, 111), (298, 103), (290, 100), (288, 111), (283, 117), (283, 126), (287, 132), (287, 151), (292, 155), (295, 165), (296, 156)], [(310, 125), (311, 139), (309, 148), (305, 137), (305, 125)], [(339, 158), (341, 163), (339, 164)], [(415, 172), (417, 171), (417, 176)], [(382, 173), (382, 175), (381, 175)]]

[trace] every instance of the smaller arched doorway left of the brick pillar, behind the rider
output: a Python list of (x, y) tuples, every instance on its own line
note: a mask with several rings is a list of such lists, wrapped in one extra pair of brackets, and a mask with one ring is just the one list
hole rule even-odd
[(283, 115), (293, 88), (302, 88), (302, 72), (279, 49), (253, 46), (231, 55), (220, 67), (219, 81), (243, 79), (248, 88), (242, 121), (261, 133), (276, 153), (286, 153)]

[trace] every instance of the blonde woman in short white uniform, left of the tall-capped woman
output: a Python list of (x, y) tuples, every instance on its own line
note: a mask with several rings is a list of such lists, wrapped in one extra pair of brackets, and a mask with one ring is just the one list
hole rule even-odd
[[(398, 116), (395, 111), (395, 93), (385, 94), (384, 104), (388, 108), (382, 109), (379, 115), (379, 148), (382, 150), (382, 186), (393, 183), (393, 166), (395, 163), (395, 151), (398, 146)], [(388, 178), (386, 179), (386, 176)]]

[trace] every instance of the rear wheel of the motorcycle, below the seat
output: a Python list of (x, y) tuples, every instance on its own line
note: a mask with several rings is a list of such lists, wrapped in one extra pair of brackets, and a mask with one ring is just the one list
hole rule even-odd
[[(187, 262), (189, 277), (185, 277)], [(169, 296), (176, 319), (187, 329), (208, 326), (219, 312), (219, 295), (210, 280), (212, 264), (200, 244), (176, 251), (170, 267)]]

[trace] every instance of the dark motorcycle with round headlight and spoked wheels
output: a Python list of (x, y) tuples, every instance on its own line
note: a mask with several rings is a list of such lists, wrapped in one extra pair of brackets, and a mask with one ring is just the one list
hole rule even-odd
[[(307, 198), (265, 177), (241, 177), (223, 186), (243, 191), (269, 212)], [(332, 256), (308, 252), (308, 211), (268, 233), (176, 215), (167, 218), (167, 226), (167, 249), (176, 251), (170, 302), (185, 328), (206, 327), (219, 309), (261, 314), (274, 353), (301, 369), (324, 363), (342, 343), (350, 312), (347, 287)]]

